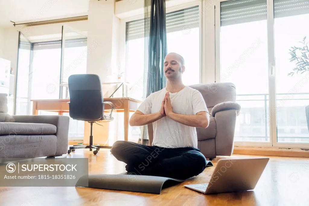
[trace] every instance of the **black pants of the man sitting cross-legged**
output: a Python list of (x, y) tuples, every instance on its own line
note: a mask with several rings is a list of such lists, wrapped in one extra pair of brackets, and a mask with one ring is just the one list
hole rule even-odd
[(200, 174), (206, 158), (199, 149), (163, 148), (128, 141), (116, 141), (111, 149), (117, 160), (125, 162), (129, 174), (187, 179)]

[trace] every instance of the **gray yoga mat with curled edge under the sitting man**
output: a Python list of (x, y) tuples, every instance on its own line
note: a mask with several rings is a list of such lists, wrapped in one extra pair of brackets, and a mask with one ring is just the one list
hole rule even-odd
[[(213, 166), (211, 161), (207, 161), (206, 167), (209, 166)], [(188, 179), (136, 175), (135, 173), (90, 174), (81, 177), (75, 187), (160, 194), (162, 189), (174, 186)]]

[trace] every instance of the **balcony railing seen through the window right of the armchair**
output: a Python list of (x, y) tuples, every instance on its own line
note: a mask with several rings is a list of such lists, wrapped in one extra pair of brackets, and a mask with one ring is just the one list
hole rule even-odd
[[(269, 94), (240, 94), (236, 101), (241, 105), (237, 117), (236, 141), (269, 141)], [(309, 105), (309, 93), (277, 93), (278, 142), (309, 143), (305, 106)]]

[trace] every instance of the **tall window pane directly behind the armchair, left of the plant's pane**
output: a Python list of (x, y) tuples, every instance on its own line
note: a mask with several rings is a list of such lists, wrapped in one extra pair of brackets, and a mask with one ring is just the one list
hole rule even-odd
[[(248, 19), (238, 10), (256, 16)], [(220, 80), (235, 84), (242, 107), (235, 140), (269, 141), (266, 0), (221, 3), (220, 61)]]

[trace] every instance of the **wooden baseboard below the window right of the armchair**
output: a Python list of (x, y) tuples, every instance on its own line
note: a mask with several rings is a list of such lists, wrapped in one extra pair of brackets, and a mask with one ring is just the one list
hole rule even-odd
[(309, 157), (307, 149), (239, 147), (235, 146), (233, 154), (262, 155), (279, 157)]

